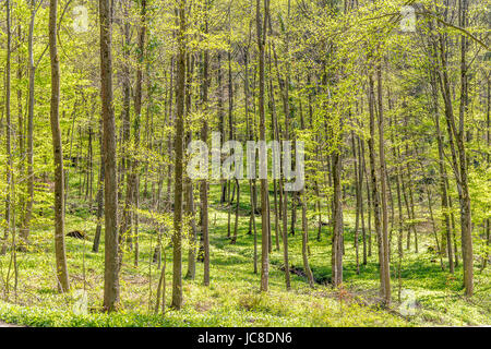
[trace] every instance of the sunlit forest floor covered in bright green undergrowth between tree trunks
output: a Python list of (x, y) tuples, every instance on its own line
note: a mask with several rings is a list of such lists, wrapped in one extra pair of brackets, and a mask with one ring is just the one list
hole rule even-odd
[[(316, 285), (309, 288), (302, 273), (301, 207), (297, 210), (297, 231), (289, 236), (291, 290), (285, 289), (283, 253), (275, 249), (274, 218), (273, 252), (271, 254), (270, 287), (266, 294), (259, 291), (260, 275), (253, 270), (253, 236), (249, 230), (249, 195), (241, 185), (238, 240), (227, 238), (228, 208), (219, 204), (219, 188), (212, 186), (209, 201), (211, 286), (204, 287), (203, 264), (196, 265), (195, 280), (183, 281), (183, 310), (166, 309), (165, 315), (154, 314), (156, 288), (160, 270), (152, 263), (156, 243), (155, 230), (144, 224), (140, 229), (140, 263), (133, 265), (133, 253), (124, 254), (121, 269), (121, 309), (108, 315), (100, 311), (104, 285), (104, 233), (98, 253), (92, 252), (95, 218), (86, 204), (70, 206), (67, 232), (85, 231), (87, 240), (67, 238), (68, 267), (71, 291), (59, 294), (55, 284), (52, 228), (46, 222), (32, 232), (27, 253), (17, 253), (17, 281), (11, 268), (11, 256), (0, 257), (0, 320), (27, 326), (482, 326), (491, 325), (491, 273), (475, 264), (476, 294), (464, 297), (462, 265), (454, 275), (442, 270), (438, 255), (432, 252), (432, 234), (424, 225), (418, 229), (419, 253), (404, 250), (402, 284), (396, 274), (396, 230), (391, 261), (393, 304), (378, 305), (379, 268), (376, 242), (372, 238), (372, 255), (356, 273), (352, 212), (345, 210), (346, 232), (344, 280), (342, 289), (328, 285), (331, 276), (331, 237), (323, 227), (321, 241), (316, 238), (316, 217), (310, 221), (309, 261)], [(71, 198), (70, 202), (76, 198)], [(272, 203), (273, 197), (272, 197)], [(324, 207), (326, 207), (324, 205)], [(272, 217), (274, 217), (272, 213)], [(326, 218), (323, 218), (326, 220)], [(232, 209), (231, 225), (235, 214)], [(258, 232), (261, 217), (258, 215)], [(428, 227), (428, 225), (426, 225)], [(232, 229), (233, 232), (233, 229)], [(362, 241), (360, 233), (360, 262)], [(282, 244), (282, 243), (280, 243)], [(406, 244), (405, 244), (406, 245)], [(185, 250), (185, 249), (184, 249)], [(258, 237), (260, 270), (261, 239)], [(167, 255), (167, 305), (171, 297), (171, 248)], [(187, 272), (183, 253), (183, 275)], [(10, 272), (9, 272), (10, 268)], [(5, 282), (8, 280), (8, 282)], [(7, 287), (8, 286), (8, 287)], [(85, 290), (86, 302), (80, 290)], [(399, 299), (399, 290), (403, 296)], [(81, 305), (82, 304), (82, 305)], [(86, 304), (87, 312), (84, 313)], [(409, 304), (409, 310), (405, 306)], [(81, 311), (82, 310), (82, 311)]]

